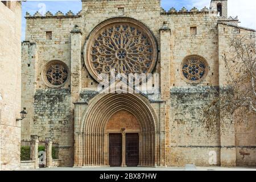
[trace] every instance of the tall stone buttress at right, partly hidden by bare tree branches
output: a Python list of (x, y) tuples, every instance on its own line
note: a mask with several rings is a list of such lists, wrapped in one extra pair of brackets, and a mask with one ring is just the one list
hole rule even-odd
[[(226, 66), (224, 60), (224, 53), (229, 50), (230, 36), (224, 32), (224, 26), (218, 26), (218, 75), (220, 96), (225, 98), (232, 92), (233, 85), (229, 84), (229, 77), (226, 76)], [(220, 115), (222, 110), (220, 110)], [(225, 114), (225, 117), (220, 118), (220, 163), (221, 166), (236, 166), (236, 135), (235, 135), (235, 121), (233, 115)]]

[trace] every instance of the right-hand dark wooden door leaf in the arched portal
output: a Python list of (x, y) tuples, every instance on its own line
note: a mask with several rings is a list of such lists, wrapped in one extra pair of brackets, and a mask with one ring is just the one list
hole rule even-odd
[(139, 134), (127, 133), (125, 140), (126, 166), (137, 167), (139, 165)]

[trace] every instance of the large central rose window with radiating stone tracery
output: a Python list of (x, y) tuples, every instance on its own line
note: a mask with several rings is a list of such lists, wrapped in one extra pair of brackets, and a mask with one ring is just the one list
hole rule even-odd
[(131, 18), (114, 18), (101, 23), (89, 36), (85, 65), (97, 81), (101, 73), (150, 73), (155, 67), (157, 46), (151, 31)]

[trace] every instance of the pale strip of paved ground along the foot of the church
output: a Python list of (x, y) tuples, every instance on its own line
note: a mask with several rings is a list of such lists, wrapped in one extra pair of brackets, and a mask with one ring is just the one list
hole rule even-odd
[(57, 168), (40, 168), (37, 171), (256, 171), (256, 167), (166, 167), (166, 168), (150, 168), (150, 167), (86, 167), (86, 168), (73, 168), (73, 167), (57, 167)]

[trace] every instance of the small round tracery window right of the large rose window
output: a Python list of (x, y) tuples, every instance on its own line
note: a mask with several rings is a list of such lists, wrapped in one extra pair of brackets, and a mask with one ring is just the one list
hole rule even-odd
[(181, 77), (187, 82), (196, 84), (207, 76), (208, 68), (207, 61), (203, 57), (187, 56), (181, 64)]

